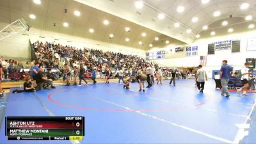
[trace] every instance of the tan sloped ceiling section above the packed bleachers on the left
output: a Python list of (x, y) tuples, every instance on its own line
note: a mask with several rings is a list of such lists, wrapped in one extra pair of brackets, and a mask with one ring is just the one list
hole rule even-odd
[[(67, 13), (64, 12), (65, 8), (67, 8)], [(79, 10), (81, 13), (79, 17), (74, 15), (75, 10)], [(31, 13), (36, 15), (36, 19), (29, 18)], [(42, 0), (41, 4), (35, 4), (33, 0), (0, 0), (0, 22), (10, 23), (20, 18), (26, 20), (32, 28), (144, 50), (148, 49), (148, 45), (154, 42), (156, 36), (163, 35), (77, 1)], [(108, 26), (103, 24), (104, 20), (109, 21)], [(63, 22), (68, 22), (69, 26), (64, 27)], [(54, 23), (56, 23), (56, 26), (54, 26)], [(130, 32), (125, 31), (127, 26), (131, 28)], [(90, 28), (94, 29), (94, 33), (89, 32)], [(147, 36), (141, 36), (143, 32)], [(114, 35), (111, 39), (109, 38), (110, 34)], [(125, 38), (129, 38), (129, 42), (126, 42)], [(170, 36), (164, 36), (164, 38), (175, 44), (184, 44)], [(143, 44), (139, 45), (138, 42), (140, 41)], [(165, 43), (157, 43), (157, 45), (165, 45)]]

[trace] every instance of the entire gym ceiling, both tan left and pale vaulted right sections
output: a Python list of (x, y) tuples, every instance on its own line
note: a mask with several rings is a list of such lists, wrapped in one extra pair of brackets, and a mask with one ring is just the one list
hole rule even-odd
[[(0, 22), (10, 23), (23, 18), (33, 28), (147, 50), (149, 44), (165, 47), (166, 40), (172, 45), (189, 44), (196, 40), (197, 33), (200, 38), (205, 38), (211, 36), (211, 31), (215, 31), (216, 36), (227, 35), (228, 28), (233, 28), (234, 33), (248, 31), (251, 30), (248, 24), (255, 24), (256, 19), (256, 0), (209, 0), (207, 4), (202, 4), (201, 0), (41, 1), (38, 5), (33, 0), (0, 0)], [(143, 7), (136, 8), (136, 1), (141, 1)], [(250, 6), (241, 10), (243, 3)], [(184, 6), (184, 12), (177, 12), (178, 6)], [(81, 16), (76, 17), (75, 10), (79, 10)], [(214, 17), (215, 11), (220, 11), (220, 16)], [(36, 15), (36, 19), (29, 18), (31, 13)], [(165, 18), (159, 19), (159, 13), (163, 13)], [(228, 18), (230, 15), (232, 18)], [(245, 20), (246, 15), (252, 15), (253, 19)], [(191, 22), (193, 17), (198, 17), (198, 21)], [(108, 26), (103, 24), (103, 20), (109, 20)], [(221, 26), (223, 20), (228, 21), (227, 26)], [(63, 22), (68, 22), (69, 26), (65, 28)], [(176, 22), (180, 24), (179, 28), (175, 28)], [(202, 30), (205, 25), (209, 29)], [(127, 26), (131, 28), (130, 32), (124, 30)], [(90, 28), (95, 32), (90, 33)], [(188, 29), (192, 32), (186, 33)], [(147, 36), (141, 36), (143, 32)], [(110, 39), (111, 33), (114, 37)], [(154, 40), (156, 36), (158, 41)], [(130, 41), (126, 42), (125, 38)], [(139, 45), (140, 41), (143, 44)]]

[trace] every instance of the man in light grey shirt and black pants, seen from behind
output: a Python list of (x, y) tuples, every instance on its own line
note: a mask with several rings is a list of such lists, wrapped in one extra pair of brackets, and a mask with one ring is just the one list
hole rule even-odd
[(207, 74), (205, 70), (202, 68), (202, 65), (198, 66), (198, 70), (196, 72), (196, 86), (198, 90), (200, 90), (200, 93), (204, 92), (204, 84), (205, 84), (205, 79), (207, 79)]

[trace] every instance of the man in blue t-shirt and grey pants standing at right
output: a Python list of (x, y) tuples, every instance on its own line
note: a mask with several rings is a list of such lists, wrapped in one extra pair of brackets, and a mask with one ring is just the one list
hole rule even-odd
[(220, 82), (222, 86), (221, 95), (224, 96), (226, 93), (226, 97), (230, 97), (230, 93), (228, 92), (227, 88), (227, 84), (230, 79), (230, 72), (232, 72), (232, 67), (228, 65), (227, 60), (223, 60), (220, 68)]

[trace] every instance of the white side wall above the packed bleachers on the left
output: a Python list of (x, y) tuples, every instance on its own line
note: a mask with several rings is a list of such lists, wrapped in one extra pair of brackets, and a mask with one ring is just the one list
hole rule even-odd
[[(4, 28), (7, 25), (8, 24), (0, 22), (0, 29)], [(42, 31), (40, 29), (34, 28), (31, 28), (29, 31), (23, 33), (26, 33), (28, 35), (22, 35), (22, 33), (17, 33), (16, 35), (0, 40), (0, 55), (6, 56), (7, 58), (17, 58), (19, 60), (30, 60), (31, 54), (28, 48), (28, 43), (30, 39), (31, 43), (35, 42), (36, 40), (39, 40), (41, 42), (55, 41), (56, 44), (70, 45), (81, 49), (83, 49), (84, 47), (88, 47), (92, 49), (101, 49), (103, 51), (113, 51), (121, 52), (123, 54), (138, 55), (142, 58), (145, 58), (144, 50), (135, 49), (132, 47), (109, 44), (106, 42), (99, 42), (77, 36), (54, 33), (51, 31)]]

